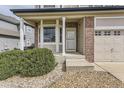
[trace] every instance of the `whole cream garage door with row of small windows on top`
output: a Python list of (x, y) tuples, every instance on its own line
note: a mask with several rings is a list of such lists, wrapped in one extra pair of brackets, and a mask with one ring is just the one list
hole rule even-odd
[(95, 31), (95, 62), (124, 62), (124, 31)]

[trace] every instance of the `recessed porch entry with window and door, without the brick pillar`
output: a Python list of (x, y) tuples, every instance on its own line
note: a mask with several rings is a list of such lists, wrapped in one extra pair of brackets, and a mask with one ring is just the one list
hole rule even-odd
[(35, 24), (35, 47), (49, 48), (63, 55), (85, 53), (83, 17), (40, 19)]

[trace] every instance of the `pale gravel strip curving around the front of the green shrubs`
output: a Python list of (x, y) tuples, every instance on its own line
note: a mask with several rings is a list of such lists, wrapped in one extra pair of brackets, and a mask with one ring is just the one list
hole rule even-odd
[(0, 81), (0, 88), (42, 88), (47, 87), (63, 75), (62, 64), (58, 64), (56, 68), (44, 76), (38, 77), (20, 77), (14, 76), (6, 80)]

